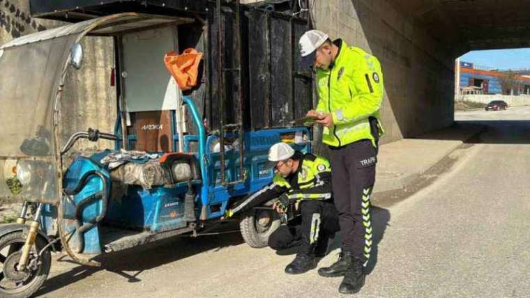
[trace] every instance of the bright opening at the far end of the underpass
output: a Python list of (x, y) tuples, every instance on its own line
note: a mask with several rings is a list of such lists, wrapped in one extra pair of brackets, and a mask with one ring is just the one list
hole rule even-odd
[[(487, 65), (487, 66), (485, 66)], [(455, 61), (455, 123), (480, 143), (530, 143), (530, 49), (471, 51)]]

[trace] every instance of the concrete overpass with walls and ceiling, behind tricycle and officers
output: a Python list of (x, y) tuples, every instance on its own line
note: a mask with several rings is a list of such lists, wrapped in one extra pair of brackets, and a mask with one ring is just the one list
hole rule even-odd
[[(243, 3), (255, 0), (243, 0)], [(296, 3), (297, 1), (294, 1)], [(474, 49), (530, 47), (530, 2), (524, 0), (313, 0), (317, 29), (349, 45), (372, 52), (381, 60), (386, 95), (381, 117), (386, 127), (384, 142), (414, 136), (453, 123), (454, 59)], [(0, 42), (31, 33), (56, 22), (31, 19), (28, 0), (0, 0)], [(98, 42), (91, 41), (91, 42)], [(98, 49), (102, 47), (103, 49)], [(89, 114), (73, 109), (74, 127), (112, 130), (115, 98), (108, 87), (107, 67), (112, 47), (100, 41), (98, 67), (72, 78), (84, 96), (97, 91), (100, 107)], [(103, 63), (102, 63), (103, 61)], [(104, 67), (103, 67), (103, 66)], [(100, 67), (102, 66), (102, 67)], [(99, 86), (99, 87), (98, 87)], [(103, 88), (100, 88), (103, 86)], [(74, 91), (75, 92), (75, 91)], [(91, 93), (93, 94), (93, 93)], [(91, 109), (82, 109), (89, 111)], [(100, 122), (95, 125), (94, 120)], [(87, 123), (92, 121), (92, 123)]]

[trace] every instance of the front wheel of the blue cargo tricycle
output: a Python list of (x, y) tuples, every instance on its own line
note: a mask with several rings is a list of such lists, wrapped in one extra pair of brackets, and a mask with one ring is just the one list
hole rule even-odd
[[(25, 239), (22, 237), (22, 232), (13, 232), (13, 233), (4, 235), (3, 237), (0, 238), (0, 255), (2, 256), (0, 258), (1, 259), (8, 258), (8, 256), (12, 255), (13, 253), (17, 253), (18, 251), (20, 251), (20, 249), (22, 249), (24, 242), (25, 242)], [(41, 249), (43, 249), (44, 246), (46, 246), (46, 244), (47, 244), (47, 241), (44, 240), (43, 237), (37, 236), (36, 245), (33, 246), (33, 249), (31, 250), (33, 253), (33, 256), (36, 256), (36, 254), (38, 254), (38, 252)], [(13, 247), (15, 249), (13, 249)], [(6, 253), (7, 256), (3, 256), (4, 253)], [(40, 286), (42, 286), (43, 283), (46, 281), (48, 274), (50, 273), (51, 265), (52, 265), (52, 256), (50, 254), (50, 249), (46, 249), (46, 251), (43, 252), (43, 256), (40, 259), (40, 265), (38, 265), (38, 268), (36, 270), (31, 271), (27, 279), (21, 282), (20, 285), (17, 285), (15, 283), (15, 287), (13, 288), (13, 287), (7, 287), (7, 285), (13, 282), (6, 279), (6, 277), (3, 275), (4, 262), (0, 262), (0, 266), (1, 266), (0, 297), (9, 297), (9, 298), (30, 297), (35, 292), (37, 292)]]

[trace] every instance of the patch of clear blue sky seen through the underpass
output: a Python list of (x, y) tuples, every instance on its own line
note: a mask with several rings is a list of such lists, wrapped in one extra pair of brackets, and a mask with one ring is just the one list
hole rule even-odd
[(460, 61), (499, 69), (530, 68), (530, 48), (471, 51), (461, 56)]

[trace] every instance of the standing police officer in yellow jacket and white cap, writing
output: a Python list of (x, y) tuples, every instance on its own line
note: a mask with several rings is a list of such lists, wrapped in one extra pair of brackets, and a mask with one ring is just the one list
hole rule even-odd
[(304, 67), (317, 72), (319, 103), (308, 116), (324, 126), (322, 141), (331, 149), (333, 197), (342, 231), (339, 260), (319, 274), (344, 276), (339, 292), (353, 294), (364, 285), (363, 269), (372, 250), (370, 194), (383, 134), (383, 75), (377, 58), (340, 39), (331, 42), (321, 31), (305, 32), (299, 45)]

